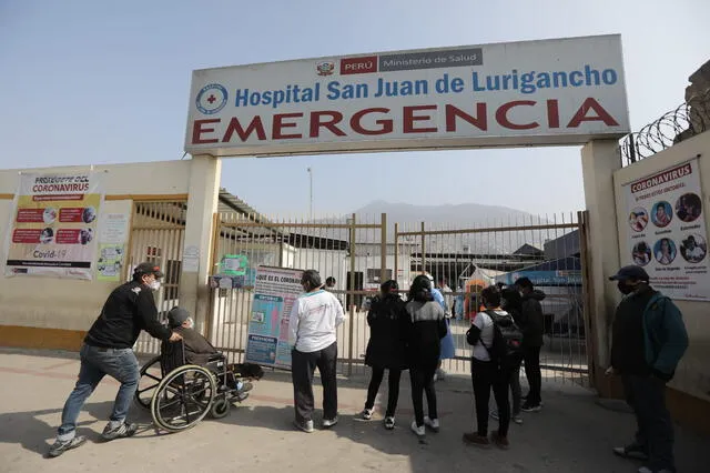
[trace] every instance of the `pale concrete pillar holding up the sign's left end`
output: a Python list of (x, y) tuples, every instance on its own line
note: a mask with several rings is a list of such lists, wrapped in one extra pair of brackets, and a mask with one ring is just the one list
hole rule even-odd
[(210, 308), (212, 215), (217, 210), (221, 174), (220, 159), (205, 154), (192, 158), (179, 298), (180, 305), (193, 314), (195, 329), (203, 333)]

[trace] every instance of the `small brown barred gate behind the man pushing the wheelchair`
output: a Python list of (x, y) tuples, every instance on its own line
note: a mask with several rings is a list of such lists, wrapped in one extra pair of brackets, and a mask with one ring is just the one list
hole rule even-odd
[[(168, 311), (179, 303), (186, 213), (185, 201), (133, 203), (125, 276), (131, 278), (133, 268), (143, 261), (154, 262), (163, 270), (165, 276), (155, 294), (162, 322), (165, 321)], [(141, 332), (135, 351), (146, 354), (159, 353), (160, 342)]]

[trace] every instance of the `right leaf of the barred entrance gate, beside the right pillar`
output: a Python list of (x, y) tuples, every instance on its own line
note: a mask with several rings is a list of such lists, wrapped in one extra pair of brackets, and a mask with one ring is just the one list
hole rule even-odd
[[(480, 291), (528, 276), (545, 292), (544, 380), (589, 383), (586, 306), (586, 213), (511, 219), (480, 228), (396, 225), (399, 274), (428, 272), (453, 315), (456, 356), (443, 369), (469, 373), (466, 330), (480, 309)], [(410, 278), (407, 278), (409, 281)]]

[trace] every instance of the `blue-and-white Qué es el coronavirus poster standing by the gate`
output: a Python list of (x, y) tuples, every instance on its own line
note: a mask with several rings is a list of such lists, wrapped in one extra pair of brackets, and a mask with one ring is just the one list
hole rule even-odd
[(288, 318), (303, 293), (302, 270), (258, 266), (246, 339), (246, 362), (291, 369)]

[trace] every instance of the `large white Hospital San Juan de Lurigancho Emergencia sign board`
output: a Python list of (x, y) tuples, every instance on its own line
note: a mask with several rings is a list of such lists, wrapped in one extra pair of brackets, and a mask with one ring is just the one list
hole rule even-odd
[(579, 144), (628, 132), (611, 34), (197, 70), (185, 151)]

